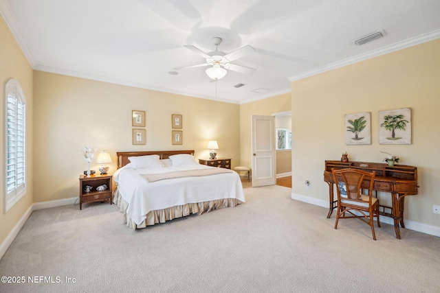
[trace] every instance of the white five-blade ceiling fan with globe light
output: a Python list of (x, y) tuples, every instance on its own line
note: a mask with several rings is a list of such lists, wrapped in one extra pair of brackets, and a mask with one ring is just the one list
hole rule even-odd
[(175, 68), (175, 70), (180, 69), (188, 69), (188, 68), (195, 68), (195, 67), (204, 67), (210, 65), (208, 69), (206, 69), (206, 74), (212, 78), (212, 80), (220, 80), (221, 78), (224, 78), (226, 73), (228, 73), (228, 70), (236, 71), (239, 73), (245, 73), (245, 74), (252, 74), (256, 71), (254, 68), (245, 67), (241, 65), (232, 64), (230, 62), (242, 58), (248, 54), (251, 54), (255, 51), (254, 48), (252, 48), (250, 45), (246, 45), (245, 47), (241, 47), (240, 49), (237, 49), (236, 51), (233, 51), (230, 54), (225, 54), (222, 51), (218, 51), (217, 47), (221, 44), (222, 39), (218, 36), (212, 38), (212, 41), (215, 45), (215, 51), (212, 51), (210, 53), (205, 53), (201, 51), (201, 49), (198, 49), (195, 46), (192, 45), (185, 45), (184, 47), (190, 49), (191, 51), (195, 52), (196, 54), (199, 54), (203, 58), (206, 58), (206, 62), (203, 64), (198, 65), (190, 65), (190, 66), (184, 66), (184, 67), (178, 67)]

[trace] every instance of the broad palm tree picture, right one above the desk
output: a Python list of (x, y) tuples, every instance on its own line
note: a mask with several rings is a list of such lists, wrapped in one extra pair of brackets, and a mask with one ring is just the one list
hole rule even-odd
[(411, 144), (411, 109), (379, 111), (379, 143), (381, 145)]

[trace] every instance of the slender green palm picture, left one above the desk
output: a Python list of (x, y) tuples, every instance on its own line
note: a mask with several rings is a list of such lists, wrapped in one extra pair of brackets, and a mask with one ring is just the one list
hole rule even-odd
[(346, 114), (344, 121), (346, 145), (371, 144), (371, 114), (369, 112)]

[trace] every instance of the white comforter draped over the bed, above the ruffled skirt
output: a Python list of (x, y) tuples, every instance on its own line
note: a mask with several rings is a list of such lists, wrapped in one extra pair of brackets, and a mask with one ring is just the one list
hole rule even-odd
[(160, 174), (190, 169), (212, 168), (206, 165), (188, 167), (155, 167), (133, 169), (130, 164), (118, 169), (113, 178), (119, 192), (129, 203), (126, 214), (141, 224), (149, 211), (168, 209), (182, 204), (236, 198), (245, 202), (243, 186), (236, 172), (209, 176), (160, 180), (152, 183), (140, 174)]

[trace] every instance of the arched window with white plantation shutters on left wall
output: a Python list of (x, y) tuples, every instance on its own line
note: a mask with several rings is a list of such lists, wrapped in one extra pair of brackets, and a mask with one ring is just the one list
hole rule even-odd
[(5, 110), (5, 211), (8, 211), (26, 192), (26, 108), (25, 97), (17, 80), (10, 80), (6, 83)]

